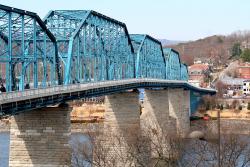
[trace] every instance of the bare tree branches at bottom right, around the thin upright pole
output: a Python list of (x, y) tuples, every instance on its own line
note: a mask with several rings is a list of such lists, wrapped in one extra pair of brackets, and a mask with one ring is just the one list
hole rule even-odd
[[(224, 131), (224, 130), (222, 130)], [(180, 159), (185, 167), (217, 167), (218, 142), (216, 134), (207, 132), (207, 140), (189, 139)], [(220, 140), (221, 167), (248, 167), (250, 165), (250, 142), (248, 136), (222, 134)]]

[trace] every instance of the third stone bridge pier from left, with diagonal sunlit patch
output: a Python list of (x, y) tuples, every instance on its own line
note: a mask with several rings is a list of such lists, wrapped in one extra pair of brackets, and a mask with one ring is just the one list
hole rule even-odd
[(169, 138), (176, 134), (176, 120), (169, 117), (168, 90), (147, 90), (144, 94), (141, 130), (150, 138), (150, 157), (169, 158)]

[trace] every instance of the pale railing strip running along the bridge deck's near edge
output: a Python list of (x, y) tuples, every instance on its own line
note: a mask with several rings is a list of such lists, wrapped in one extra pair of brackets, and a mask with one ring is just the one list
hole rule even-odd
[(22, 92), (6, 92), (0, 94), (0, 104), (13, 102), (13, 101), (22, 101), (27, 99), (51, 96), (55, 94), (62, 94), (62, 93), (71, 93), (77, 92), (82, 90), (91, 90), (94, 88), (103, 88), (103, 87), (111, 87), (111, 86), (120, 86), (132, 83), (167, 83), (173, 86), (180, 86), (180, 87), (188, 87), (189, 89), (195, 89), (197, 91), (207, 91), (213, 92), (213, 89), (204, 89), (198, 88), (186, 81), (180, 80), (165, 80), (165, 79), (150, 79), (150, 78), (140, 78), (140, 79), (124, 79), (124, 80), (113, 80), (113, 81), (99, 81), (99, 82), (92, 82), (92, 83), (79, 83), (79, 84), (71, 84), (71, 85), (58, 85), (54, 87), (48, 88), (39, 88), (39, 89), (27, 89)]

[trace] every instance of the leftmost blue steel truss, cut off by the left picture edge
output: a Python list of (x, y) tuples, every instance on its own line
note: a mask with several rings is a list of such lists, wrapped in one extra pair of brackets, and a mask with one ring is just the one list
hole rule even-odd
[(0, 47), (7, 91), (61, 83), (56, 39), (37, 14), (0, 5)]

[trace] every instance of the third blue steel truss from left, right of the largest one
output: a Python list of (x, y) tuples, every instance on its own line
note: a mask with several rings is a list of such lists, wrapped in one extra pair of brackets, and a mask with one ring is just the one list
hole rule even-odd
[(166, 78), (161, 42), (149, 35), (131, 34), (136, 53), (136, 78)]

